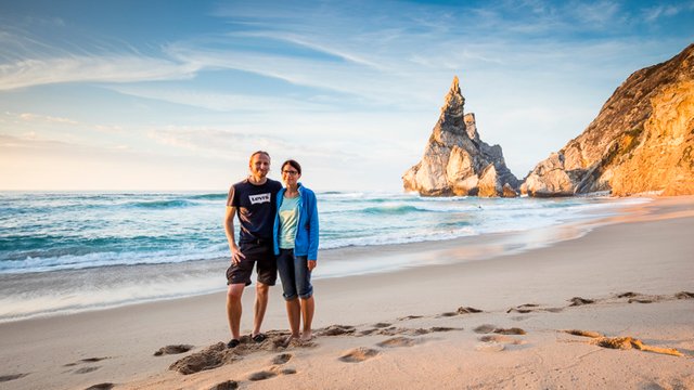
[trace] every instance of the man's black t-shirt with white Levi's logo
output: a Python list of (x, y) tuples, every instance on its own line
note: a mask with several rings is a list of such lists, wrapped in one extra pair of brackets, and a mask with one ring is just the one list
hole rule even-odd
[(236, 208), (241, 224), (239, 243), (272, 239), (280, 188), (282, 184), (271, 179), (260, 185), (252, 184), (246, 179), (229, 188), (227, 206)]

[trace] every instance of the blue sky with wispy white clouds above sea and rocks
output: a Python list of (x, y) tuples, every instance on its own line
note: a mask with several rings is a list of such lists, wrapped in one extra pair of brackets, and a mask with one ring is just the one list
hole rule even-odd
[(316, 190), (400, 191), (453, 76), (523, 178), (694, 1), (0, 0), (0, 190), (215, 190), (270, 152)]

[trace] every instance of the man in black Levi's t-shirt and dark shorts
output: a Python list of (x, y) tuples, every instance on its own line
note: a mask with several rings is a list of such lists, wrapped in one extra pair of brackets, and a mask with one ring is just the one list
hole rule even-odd
[[(231, 341), (227, 343), (229, 348), (240, 343), (241, 297), (244, 288), (250, 284), (254, 264), (258, 283), (250, 337), (256, 342), (266, 339), (260, 333), (260, 325), (268, 307), (270, 286), (274, 286), (278, 276), (272, 227), (277, 212), (277, 194), (282, 184), (267, 178), (270, 171), (270, 155), (267, 152), (258, 151), (250, 155), (248, 168), (250, 176), (229, 190), (224, 217), (224, 231), (231, 250), (231, 266), (227, 270), (227, 317), (231, 330)], [(239, 245), (234, 238), (234, 216), (239, 217), (241, 225)]]

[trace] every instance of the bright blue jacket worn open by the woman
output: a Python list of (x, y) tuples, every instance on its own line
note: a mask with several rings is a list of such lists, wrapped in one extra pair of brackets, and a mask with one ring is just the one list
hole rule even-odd
[[(272, 230), (272, 242), (274, 255), (280, 255), (280, 206), (284, 200), (282, 187), (278, 193), (278, 212), (274, 216), (274, 229)], [(294, 238), (294, 256), (306, 256), (308, 260), (318, 260), (318, 206), (316, 194), (301, 183), (299, 191), (299, 220), (296, 225), (296, 237)]]

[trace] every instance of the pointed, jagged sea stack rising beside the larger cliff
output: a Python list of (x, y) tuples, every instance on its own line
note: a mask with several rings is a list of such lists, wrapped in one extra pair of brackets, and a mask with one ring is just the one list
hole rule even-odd
[(475, 115), (465, 114), (464, 105), (455, 77), (422, 160), (402, 176), (404, 190), (426, 196), (516, 196), (518, 180), (506, 168), (501, 146), (479, 139)]

